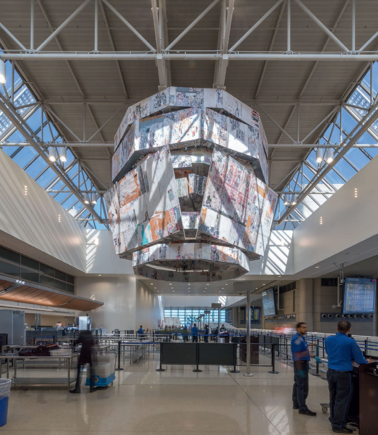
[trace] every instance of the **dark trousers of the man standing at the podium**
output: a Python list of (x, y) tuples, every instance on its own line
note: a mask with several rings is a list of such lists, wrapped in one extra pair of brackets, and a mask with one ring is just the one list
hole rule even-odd
[(346, 417), (353, 397), (353, 376), (350, 371), (327, 371), (329, 388), (329, 421), (332, 428), (341, 429), (346, 425)]

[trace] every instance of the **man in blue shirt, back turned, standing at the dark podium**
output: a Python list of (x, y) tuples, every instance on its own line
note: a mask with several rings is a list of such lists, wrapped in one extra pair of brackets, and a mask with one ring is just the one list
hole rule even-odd
[(346, 427), (346, 417), (353, 397), (352, 360), (357, 364), (366, 364), (364, 355), (357, 342), (349, 338), (352, 325), (342, 320), (337, 325), (337, 334), (325, 339), (325, 351), (328, 355), (327, 381), (329, 388), (329, 410), (332, 431), (352, 433)]

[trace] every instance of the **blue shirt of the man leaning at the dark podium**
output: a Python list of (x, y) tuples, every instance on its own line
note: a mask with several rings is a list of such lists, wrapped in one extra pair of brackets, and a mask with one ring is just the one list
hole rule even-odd
[(357, 364), (368, 362), (357, 342), (343, 332), (330, 335), (325, 339), (325, 351), (328, 355), (328, 368), (333, 370), (352, 371), (352, 360)]

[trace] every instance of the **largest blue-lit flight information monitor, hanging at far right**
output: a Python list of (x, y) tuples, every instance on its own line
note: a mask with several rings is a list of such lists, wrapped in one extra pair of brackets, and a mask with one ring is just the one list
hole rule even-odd
[(375, 279), (345, 278), (343, 313), (374, 313), (375, 291)]

